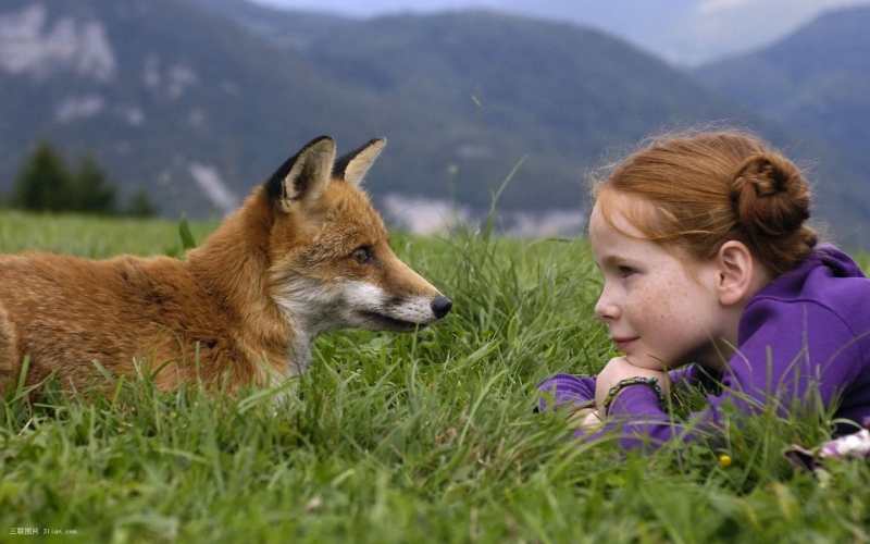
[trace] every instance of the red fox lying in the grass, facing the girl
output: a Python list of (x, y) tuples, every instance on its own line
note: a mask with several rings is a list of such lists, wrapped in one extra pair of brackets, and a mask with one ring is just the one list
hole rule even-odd
[(321, 136), (289, 158), (186, 260), (0, 256), (0, 395), (52, 373), (64, 391), (137, 366), (156, 384), (273, 385), (299, 375), (326, 331), (412, 332), (452, 306), (389, 248), (360, 188), (386, 145), (335, 160)]

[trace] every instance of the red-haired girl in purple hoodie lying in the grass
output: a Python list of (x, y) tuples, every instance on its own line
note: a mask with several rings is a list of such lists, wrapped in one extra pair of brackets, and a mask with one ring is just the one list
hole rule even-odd
[[(593, 197), (595, 313), (623, 355), (597, 378), (539, 385), (585, 408), (582, 429), (619, 421), (627, 448), (688, 441), (716, 432), (726, 403), (748, 413), (779, 399), (784, 412), (810, 387), (838, 403), (836, 418), (870, 417), (870, 281), (818, 243), (808, 183), (788, 159), (735, 132), (669, 137)], [(713, 392), (692, 415), (695, 432), (664, 412), (676, 385)]]

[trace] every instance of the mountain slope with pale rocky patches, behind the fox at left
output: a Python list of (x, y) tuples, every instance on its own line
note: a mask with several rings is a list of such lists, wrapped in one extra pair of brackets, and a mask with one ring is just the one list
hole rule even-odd
[(391, 116), (437, 119), (324, 78), (250, 32), (169, 0), (0, 9), (0, 189), (39, 138), (94, 151), (167, 215), (225, 212), (320, 134), (343, 149)]

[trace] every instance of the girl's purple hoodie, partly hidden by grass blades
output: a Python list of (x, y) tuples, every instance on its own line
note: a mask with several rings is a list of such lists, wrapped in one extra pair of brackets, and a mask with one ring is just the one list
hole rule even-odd
[[(774, 396), (785, 413), (791, 401), (801, 399), (811, 386), (818, 386), (825, 407), (838, 400), (835, 418), (861, 422), (870, 417), (870, 280), (840, 249), (819, 245), (804, 263), (761, 288), (741, 316), (737, 342), (738, 353), (725, 371), (712, 374), (721, 387), (713, 386), (717, 393), (707, 396), (709, 407), (692, 413), (693, 429), (720, 428), (726, 401), (751, 412)], [(710, 373), (693, 363), (670, 376), (674, 386), (710, 386), (714, 383)], [(557, 405), (588, 403), (595, 398), (595, 378), (556, 374), (538, 388), (552, 391)], [(623, 390), (608, 417), (621, 424), (625, 448), (641, 446), (644, 437), (654, 446), (678, 436), (695, 440), (693, 432), (662, 411), (647, 386)], [(842, 426), (841, 432), (860, 429)]]

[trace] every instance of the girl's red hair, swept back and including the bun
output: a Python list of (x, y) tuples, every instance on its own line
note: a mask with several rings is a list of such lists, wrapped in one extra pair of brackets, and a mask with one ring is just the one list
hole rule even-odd
[(619, 212), (646, 238), (698, 260), (742, 242), (774, 276), (803, 262), (819, 238), (806, 224), (810, 190), (800, 170), (734, 131), (656, 138), (593, 182), (593, 198), (611, 225)]

